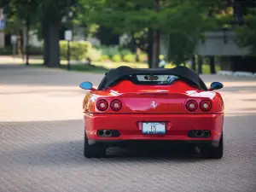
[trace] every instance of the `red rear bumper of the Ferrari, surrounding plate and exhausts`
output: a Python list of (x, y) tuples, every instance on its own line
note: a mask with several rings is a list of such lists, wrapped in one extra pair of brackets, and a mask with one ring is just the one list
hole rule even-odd
[[(142, 122), (166, 122), (165, 135), (142, 133)], [(90, 143), (128, 143), (129, 141), (183, 141), (186, 143), (218, 143), (223, 131), (224, 113), (216, 114), (84, 114), (84, 129)], [(117, 130), (119, 137), (98, 137), (96, 131)], [(191, 130), (209, 130), (211, 137), (193, 138)]]

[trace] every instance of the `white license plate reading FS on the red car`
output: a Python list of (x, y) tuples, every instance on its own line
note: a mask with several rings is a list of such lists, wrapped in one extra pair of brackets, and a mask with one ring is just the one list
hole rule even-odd
[(143, 133), (145, 133), (145, 134), (165, 134), (166, 133), (166, 123), (143, 122)]

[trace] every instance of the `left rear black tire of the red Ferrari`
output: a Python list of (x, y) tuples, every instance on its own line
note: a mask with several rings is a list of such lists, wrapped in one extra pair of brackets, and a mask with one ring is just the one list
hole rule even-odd
[(101, 158), (106, 156), (106, 148), (101, 145), (89, 145), (86, 132), (84, 131), (84, 157)]

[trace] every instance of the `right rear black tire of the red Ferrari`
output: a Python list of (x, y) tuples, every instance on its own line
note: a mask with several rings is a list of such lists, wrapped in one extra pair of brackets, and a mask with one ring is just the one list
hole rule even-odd
[(223, 150), (224, 150), (224, 144), (223, 144), (223, 133), (221, 134), (221, 137), (219, 139), (218, 147), (203, 147), (200, 150), (200, 153), (203, 157), (209, 158), (209, 159), (221, 159), (223, 157)]

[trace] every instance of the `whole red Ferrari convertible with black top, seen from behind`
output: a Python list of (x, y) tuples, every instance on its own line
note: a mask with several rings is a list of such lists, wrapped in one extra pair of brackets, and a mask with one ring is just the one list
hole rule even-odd
[[(224, 102), (195, 71), (118, 67), (84, 97), (84, 156), (100, 157), (122, 143), (188, 143), (205, 157), (223, 156)], [(168, 145), (164, 145), (168, 146)]]

